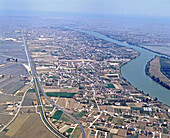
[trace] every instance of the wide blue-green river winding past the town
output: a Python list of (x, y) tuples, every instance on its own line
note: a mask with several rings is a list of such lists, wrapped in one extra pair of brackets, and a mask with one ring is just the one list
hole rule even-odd
[(140, 52), (141, 54), (139, 57), (130, 61), (128, 64), (122, 66), (121, 68), (122, 76), (138, 90), (141, 90), (145, 94), (149, 94), (152, 97), (157, 97), (159, 101), (170, 106), (170, 90), (165, 89), (161, 85), (157, 84), (145, 74), (145, 66), (147, 62), (150, 61), (155, 55), (159, 55), (159, 54), (156, 54), (154, 52), (148, 51), (146, 49), (137, 46), (133, 46), (127, 43), (114, 40), (100, 33), (81, 30), (81, 29), (75, 29), (75, 30), (92, 35), (94, 37), (104, 39), (106, 41), (116, 43), (118, 45), (133, 48), (136, 51)]

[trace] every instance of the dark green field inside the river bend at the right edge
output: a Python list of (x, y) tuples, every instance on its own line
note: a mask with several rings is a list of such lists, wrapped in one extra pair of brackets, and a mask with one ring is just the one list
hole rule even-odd
[(161, 72), (170, 79), (170, 59), (160, 57)]

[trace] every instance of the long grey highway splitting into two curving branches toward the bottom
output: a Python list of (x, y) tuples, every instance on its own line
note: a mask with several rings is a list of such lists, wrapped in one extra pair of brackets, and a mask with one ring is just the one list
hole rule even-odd
[(53, 101), (51, 101), (48, 96), (46, 95), (46, 93), (44, 92), (44, 89), (41, 85), (41, 82), (39, 80), (39, 77), (37, 75), (37, 72), (35, 70), (35, 67), (32, 63), (32, 60), (31, 60), (31, 56), (30, 56), (30, 53), (29, 53), (29, 49), (28, 49), (28, 45), (27, 45), (27, 42), (24, 38), (24, 34), (23, 34), (23, 31), (22, 31), (22, 37), (23, 37), (23, 41), (24, 41), (24, 46), (25, 46), (25, 52), (26, 52), (26, 55), (27, 55), (27, 60), (28, 60), (28, 65), (31, 69), (31, 74), (32, 74), (32, 79), (33, 79), (33, 82), (34, 82), (34, 85), (35, 85), (35, 90), (36, 90), (36, 93), (37, 93), (37, 98), (38, 98), (38, 103), (40, 105), (40, 112), (41, 112), (41, 118), (42, 120), (44, 121), (44, 123), (46, 124), (46, 126), (48, 127), (48, 129), (50, 129), (50, 131), (52, 131), (57, 137), (61, 137), (61, 138), (64, 138), (65, 136), (62, 135), (59, 131), (57, 131), (47, 120), (46, 116), (45, 116), (45, 113), (44, 113), (44, 110), (43, 110), (43, 104), (42, 104), (42, 101), (41, 101), (41, 97), (40, 97), (40, 92), (44, 95), (44, 97), (56, 108), (58, 108), (59, 110), (61, 110), (62, 112), (64, 112), (67, 116), (69, 116), (70, 118), (72, 118), (77, 124), (78, 126), (80, 127), (81, 129), (81, 132), (82, 132), (82, 137), (83, 138), (86, 138), (86, 134), (85, 134), (85, 131), (84, 131), (84, 128), (83, 126), (81, 125), (81, 123), (75, 118), (73, 117), (71, 114), (69, 114), (67, 111), (65, 111), (62, 107), (58, 106), (57, 104), (55, 104)]

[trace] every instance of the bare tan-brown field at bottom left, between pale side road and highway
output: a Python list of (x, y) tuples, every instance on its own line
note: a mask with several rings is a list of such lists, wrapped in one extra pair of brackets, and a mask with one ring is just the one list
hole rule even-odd
[(19, 114), (16, 120), (7, 127), (5, 136), (18, 138), (55, 138), (55, 135), (44, 126), (39, 114), (36, 113)]

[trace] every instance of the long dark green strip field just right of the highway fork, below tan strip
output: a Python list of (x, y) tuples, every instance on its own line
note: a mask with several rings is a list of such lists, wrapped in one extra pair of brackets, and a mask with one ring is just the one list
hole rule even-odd
[(49, 97), (64, 97), (72, 98), (76, 93), (66, 93), (66, 92), (48, 92), (46, 93)]

